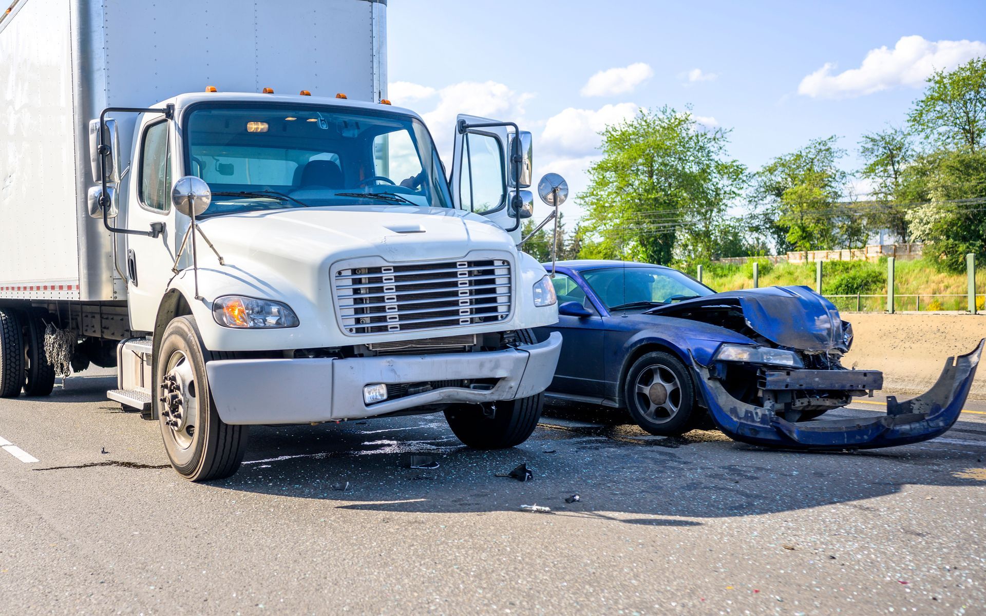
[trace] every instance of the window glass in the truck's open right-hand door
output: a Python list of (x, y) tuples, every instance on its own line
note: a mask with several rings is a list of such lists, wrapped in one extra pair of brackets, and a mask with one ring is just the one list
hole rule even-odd
[(462, 206), (476, 214), (499, 210), (507, 202), (505, 176), (500, 140), (490, 135), (466, 134), (458, 182)]

